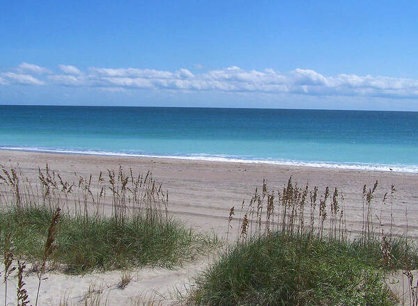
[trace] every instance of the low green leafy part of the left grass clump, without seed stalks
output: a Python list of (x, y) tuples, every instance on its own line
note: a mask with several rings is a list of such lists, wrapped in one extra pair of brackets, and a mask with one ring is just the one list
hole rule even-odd
[[(0, 212), (0, 230), (9, 230), (15, 257), (40, 261), (53, 211), (31, 207)], [(63, 214), (57, 225), (51, 260), (67, 273), (133, 266), (173, 266), (194, 259), (210, 240), (176, 220), (83, 218)]]

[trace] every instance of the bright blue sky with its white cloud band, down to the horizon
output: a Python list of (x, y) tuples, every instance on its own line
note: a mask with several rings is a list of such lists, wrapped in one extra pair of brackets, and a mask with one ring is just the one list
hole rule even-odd
[(418, 111), (416, 0), (0, 4), (0, 104)]

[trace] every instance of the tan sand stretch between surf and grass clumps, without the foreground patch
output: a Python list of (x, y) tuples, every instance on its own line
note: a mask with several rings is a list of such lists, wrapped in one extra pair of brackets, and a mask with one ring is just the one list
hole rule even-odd
[(389, 205), (382, 206), (382, 198), (396, 188), (393, 214), (394, 232), (403, 234), (407, 223), (408, 234), (418, 238), (418, 174), (278, 166), (263, 163), (229, 163), (189, 161), (180, 159), (96, 156), (82, 154), (49, 154), (0, 150), (0, 164), (18, 166), (31, 181), (38, 178), (38, 167), (56, 170), (69, 181), (75, 173), (88, 177), (100, 171), (132, 168), (138, 172), (150, 170), (157, 182), (169, 191), (169, 211), (200, 231), (226, 233), (229, 209), (239, 211), (242, 200), (249, 201), (263, 179), (269, 189), (281, 189), (290, 176), (300, 185), (318, 186), (323, 193), (326, 186), (339, 188), (346, 204), (348, 230), (359, 230), (362, 218), (362, 189), (372, 187), (378, 180), (374, 203), (382, 208), (382, 220), (389, 220)]

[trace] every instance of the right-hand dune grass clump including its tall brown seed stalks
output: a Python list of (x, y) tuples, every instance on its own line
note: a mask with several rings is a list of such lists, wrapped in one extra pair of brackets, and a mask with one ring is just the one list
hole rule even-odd
[[(393, 236), (392, 223), (389, 234), (384, 233), (381, 220), (376, 228), (377, 187), (378, 182), (372, 188), (364, 186), (362, 232), (348, 239), (344, 196), (337, 188), (331, 193), (326, 187), (321, 195), (318, 187), (309, 191), (308, 185), (300, 187), (290, 177), (282, 191), (274, 192), (263, 181), (262, 193), (256, 189), (249, 204), (242, 203), (237, 242), (196, 278), (187, 301), (194, 305), (396, 305), (398, 298), (385, 280), (387, 273), (402, 270), (415, 303), (417, 287), (410, 271), (418, 268), (417, 246), (408, 239), (408, 232)], [(391, 207), (394, 191), (392, 186)]]

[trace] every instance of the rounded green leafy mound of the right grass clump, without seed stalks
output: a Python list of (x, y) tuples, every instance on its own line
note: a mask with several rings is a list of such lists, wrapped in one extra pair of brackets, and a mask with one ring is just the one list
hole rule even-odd
[[(369, 255), (369, 257), (364, 257)], [(196, 280), (196, 305), (396, 305), (362, 244), (271, 234), (238, 243)]]

